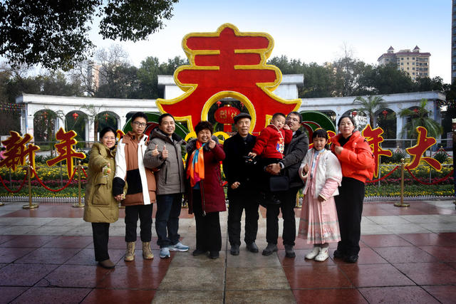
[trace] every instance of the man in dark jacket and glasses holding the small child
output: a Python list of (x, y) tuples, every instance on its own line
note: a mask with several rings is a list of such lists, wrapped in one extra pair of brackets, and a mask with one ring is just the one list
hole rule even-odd
[(309, 137), (306, 132), (300, 130), (301, 115), (299, 112), (290, 112), (286, 116), (286, 124), (293, 131), (293, 137), (288, 145), (285, 145), (284, 158), (276, 164), (269, 164), (266, 171), (271, 174), (279, 174), (281, 170), (289, 177), (290, 189), (279, 195), (280, 204), (271, 204), (266, 207), (266, 241), (268, 246), (264, 249), (263, 255), (269, 256), (277, 251), (277, 239), (279, 238), (279, 209), (284, 219), (284, 241), (285, 256), (294, 258), (293, 246), (296, 239), (296, 221), (294, 219), (294, 206), (296, 206), (296, 194), (303, 187), (303, 182), (298, 176), (298, 169), (302, 159), (309, 149)]

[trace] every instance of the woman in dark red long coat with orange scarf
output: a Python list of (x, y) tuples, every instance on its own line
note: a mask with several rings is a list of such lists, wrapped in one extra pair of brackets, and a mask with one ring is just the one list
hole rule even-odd
[(198, 122), (197, 139), (187, 144), (187, 198), (189, 213), (195, 214), (197, 248), (193, 256), (207, 253), (218, 258), (222, 249), (219, 211), (226, 211), (220, 162), (225, 158), (222, 145), (212, 136), (210, 122)]

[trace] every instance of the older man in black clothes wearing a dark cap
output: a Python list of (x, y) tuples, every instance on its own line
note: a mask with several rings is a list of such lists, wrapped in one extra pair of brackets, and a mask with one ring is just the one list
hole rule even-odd
[(247, 156), (255, 145), (257, 137), (249, 134), (252, 117), (248, 113), (240, 113), (234, 117), (237, 133), (225, 140), (223, 150), (226, 157), (223, 171), (228, 181), (228, 237), (231, 245), (230, 253), (239, 255), (241, 246), (241, 216), (245, 210), (245, 237), (247, 250), (258, 252), (258, 208), (257, 192), (254, 189), (254, 164)]

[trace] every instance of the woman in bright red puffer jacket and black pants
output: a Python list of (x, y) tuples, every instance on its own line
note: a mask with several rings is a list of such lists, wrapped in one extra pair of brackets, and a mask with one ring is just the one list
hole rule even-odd
[(334, 251), (334, 258), (347, 263), (358, 261), (363, 213), (364, 184), (372, 179), (374, 159), (371, 147), (359, 131), (355, 131), (353, 117), (343, 115), (337, 124), (339, 134), (331, 138), (331, 150), (342, 168), (339, 195), (335, 196), (341, 241)]

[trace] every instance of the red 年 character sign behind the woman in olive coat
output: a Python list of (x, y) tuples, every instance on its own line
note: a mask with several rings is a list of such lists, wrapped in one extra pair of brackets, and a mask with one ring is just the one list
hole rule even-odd
[(65, 132), (63, 128), (60, 128), (56, 133), (56, 140), (58, 140), (59, 143), (54, 145), (57, 149), (58, 156), (46, 161), (46, 164), (48, 164), (48, 166), (53, 166), (58, 162), (66, 160), (68, 178), (71, 178), (71, 175), (73, 174), (73, 158), (86, 158), (86, 154), (82, 152), (76, 152), (76, 150), (73, 149), (73, 145), (76, 145), (78, 143), (74, 139), (76, 135), (76, 132), (73, 130)]

